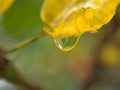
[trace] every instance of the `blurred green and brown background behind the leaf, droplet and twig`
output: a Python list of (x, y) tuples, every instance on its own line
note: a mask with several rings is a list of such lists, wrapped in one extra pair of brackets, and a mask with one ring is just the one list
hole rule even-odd
[[(0, 16), (1, 48), (9, 49), (41, 31), (43, 1), (15, 0)], [(120, 6), (110, 23), (97, 33), (86, 32), (72, 51), (60, 51), (48, 35), (7, 59), (26, 82), (43, 90), (120, 90)], [(0, 90), (26, 88), (3, 77)]]

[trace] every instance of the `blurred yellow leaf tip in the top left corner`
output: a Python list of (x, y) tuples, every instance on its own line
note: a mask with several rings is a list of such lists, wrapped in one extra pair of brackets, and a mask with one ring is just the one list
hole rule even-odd
[(0, 0), (0, 15), (3, 14), (13, 3), (13, 0)]

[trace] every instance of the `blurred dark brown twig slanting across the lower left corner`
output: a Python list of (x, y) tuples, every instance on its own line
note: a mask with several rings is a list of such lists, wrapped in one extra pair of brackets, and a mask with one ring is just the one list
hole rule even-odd
[(27, 82), (12, 62), (5, 58), (5, 52), (2, 50), (0, 50), (0, 77), (28, 90), (43, 90), (40, 86), (34, 86)]

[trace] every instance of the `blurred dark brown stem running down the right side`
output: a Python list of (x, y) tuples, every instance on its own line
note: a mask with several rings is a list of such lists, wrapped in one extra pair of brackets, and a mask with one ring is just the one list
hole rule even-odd
[[(120, 6), (118, 7), (120, 9)], [(106, 31), (105, 31), (105, 36), (102, 37), (102, 39), (99, 41), (98, 46), (96, 47), (94, 53), (93, 53), (93, 59), (94, 59), (94, 75), (86, 80), (84, 82), (82, 90), (89, 90), (93, 84), (95, 84), (98, 80), (100, 80), (100, 73), (104, 67), (101, 66), (101, 50), (104, 47), (104, 45), (111, 40), (116, 32), (118, 31), (119, 25), (120, 25), (120, 17), (117, 16), (119, 14), (116, 14), (114, 18), (111, 20), (109, 24), (106, 25)]]

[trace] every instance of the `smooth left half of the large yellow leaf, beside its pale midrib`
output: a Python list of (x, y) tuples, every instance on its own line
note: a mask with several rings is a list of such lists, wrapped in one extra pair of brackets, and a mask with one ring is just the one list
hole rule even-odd
[(54, 21), (59, 21), (65, 14), (64, 12), (68, 11), (71, 6), (70, 3), (73, 3), (71, 0), (45, 0), (41, 16), (44, 22), (49, 24), (54, 24)]

